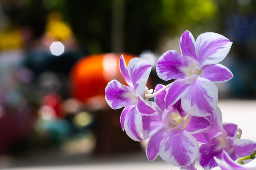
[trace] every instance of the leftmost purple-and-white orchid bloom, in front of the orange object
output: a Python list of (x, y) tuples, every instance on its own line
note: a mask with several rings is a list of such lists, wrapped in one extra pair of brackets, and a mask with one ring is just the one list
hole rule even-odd
[[(124, 107), (120, 117), (121, 128), (126, 131), (126, 134), (131, 139), (141, 141), (144, 139), (142, 118), (137, 104), (138, 98), (141, 98), (142, 101), (144, 100), (144, 95), (150, 93), (146, 83), (151, 71), (151, 65), (146, 60), (136, 57), (130, 60), (127, 67), (124, 56), (121, 55), (119, 68), (129, 86), (121, 84), (116, 79), (110, 81), (105, 89), (105, 99), (112, 109)], [(150, 110), (147, 113), (150, 113)]]

